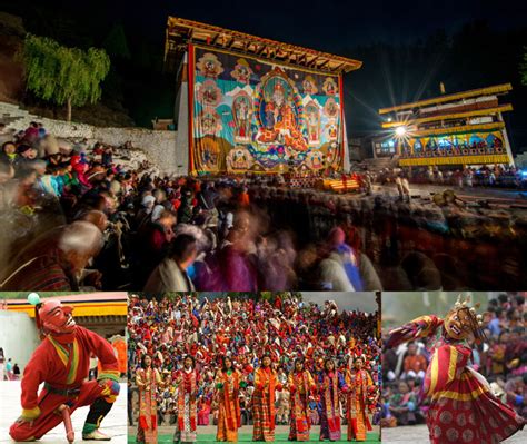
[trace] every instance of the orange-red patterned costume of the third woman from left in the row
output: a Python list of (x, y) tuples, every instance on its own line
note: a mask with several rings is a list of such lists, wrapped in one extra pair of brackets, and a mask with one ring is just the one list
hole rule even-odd
[(241, 427), (240, 381), (241, 374), (236, 369), (220, 371), (216, 375), (218, 391), (218, 433), (216, 441), (236, 443), (238, 428)]

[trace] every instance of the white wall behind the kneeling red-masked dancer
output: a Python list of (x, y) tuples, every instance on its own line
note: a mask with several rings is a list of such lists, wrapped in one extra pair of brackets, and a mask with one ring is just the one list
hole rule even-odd
[(0, 310), (0, 347), (3, 348), (6, 362), (18, 363), (23, 372), (31, 354), (40, 344), (39, 333), (26, 313)]

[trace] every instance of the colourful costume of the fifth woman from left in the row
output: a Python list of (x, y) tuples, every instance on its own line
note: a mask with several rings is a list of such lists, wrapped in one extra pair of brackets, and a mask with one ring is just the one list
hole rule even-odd
[(309, 441), (311, 428), (308, 404), (309, 392), (315, 391), (315, 381), (308, 371), (294, 371), (288, 378), (289, 392), (291, 394), (291, 428), (290, 441)]

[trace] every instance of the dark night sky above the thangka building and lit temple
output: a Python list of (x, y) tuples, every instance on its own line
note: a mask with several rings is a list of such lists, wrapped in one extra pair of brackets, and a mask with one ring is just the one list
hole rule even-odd
[[(350, 137), (378, 129), (381, 107), (438, 96), (439, 81), (447, 92), (510, 81), (508, 101), (515, 111), (506, 116), (509, 136), (515, 150), (527, 149), (527, 87), (520, 86), (518, 68), (527, 47), (525, 0), (0, 0), (0, 10), (18, 9), (23, 16), (32, 4), (80, 17), (101, 36), (121, 22), (129, 40), (148, 41), (160, 55), (167, 17), (172, 14), (362, 60), (364, 68), (345, 78)], [(467, 23), (479, 24), (463, 37)], [(486, 32), (479, 40), (481, 26)], [(463, 38), (454, 50), (439, 48), (430, 56), (438, 30), (448, 39), (456, 33)]]

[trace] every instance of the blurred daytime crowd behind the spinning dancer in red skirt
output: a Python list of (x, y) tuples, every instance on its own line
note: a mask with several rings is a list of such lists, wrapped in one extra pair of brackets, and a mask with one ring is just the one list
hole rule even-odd
[[(527, 417), (527, 335), (525, 295), (501, 294), (486, 309), (486, 341), (470, 342), (470, 366), (490, 383), (493, 392)], [(384, 336), (388, 332), (384, 332)], [(430, 362), (431, 344), (419, 339), (382, 354), (382, 424), (420, 424), (428, 405), (422, 382)]]

